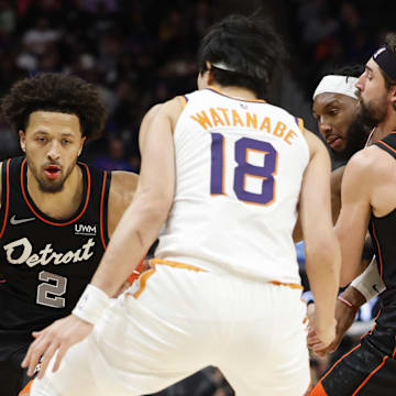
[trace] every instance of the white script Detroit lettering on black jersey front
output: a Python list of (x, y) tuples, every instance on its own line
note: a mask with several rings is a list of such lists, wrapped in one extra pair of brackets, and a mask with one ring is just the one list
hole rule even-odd
[(33, 267), (37, 264), (47, 265), (53, 263), (67, 264), (78, 263), (89, 260), (94, 255), (95, 241), (90, 238), (81, 248), (76, 251), (67, 251), (59, 253), (54, 251), (52, 243), (47, 243), (38, 253), (33, 251), (33, 245), (28, 238), (21, 238), (16, 241), (10, 242), (3, 246), (7, 255), (7, 261), (10, 264), (26, 264)]

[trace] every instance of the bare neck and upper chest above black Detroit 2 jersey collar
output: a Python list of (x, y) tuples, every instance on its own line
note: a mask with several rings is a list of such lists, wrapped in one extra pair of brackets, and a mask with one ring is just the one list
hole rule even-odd
[(62, 191), (43, 191), (28, 167), (28, 191), (35, 206), (46, 216), (63, 220), (70, 218), (78, 209), (82, 196), (82, 173), (75, 166), (65, 180)]

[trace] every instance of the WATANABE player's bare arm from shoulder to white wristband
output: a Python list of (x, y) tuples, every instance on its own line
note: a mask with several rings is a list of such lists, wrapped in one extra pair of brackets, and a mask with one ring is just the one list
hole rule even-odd
[(109, 296), (146, 254), (170, 209), (175, 188), (173, 128), (180, 111), (178, 99), (166, 102), (142, 141), (142, 167), (135, 197), (92, 278), (92, 285)]

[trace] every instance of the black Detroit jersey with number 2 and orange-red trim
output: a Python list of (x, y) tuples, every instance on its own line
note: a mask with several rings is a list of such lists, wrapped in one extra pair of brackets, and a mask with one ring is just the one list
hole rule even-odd
[(1, 336), (42, 329), (70, 314), (108, 242), (111, 174), (78, 163), (84, 193), (76, 213), (54, 220), (29, 196), (26, 160), (2, 165), (0, 209)]

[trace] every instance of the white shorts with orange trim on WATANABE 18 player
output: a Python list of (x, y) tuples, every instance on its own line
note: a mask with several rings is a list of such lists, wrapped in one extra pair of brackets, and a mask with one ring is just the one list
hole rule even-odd
[(208, 365), (240, 396), (307, 391), (300, 289), (155, 262), (33, 396), (152, 394)]

